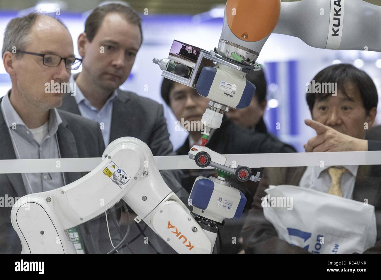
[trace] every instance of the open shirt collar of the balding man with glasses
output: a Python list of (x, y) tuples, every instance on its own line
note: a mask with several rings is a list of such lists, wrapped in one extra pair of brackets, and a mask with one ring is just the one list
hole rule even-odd
[[(26, 129), (28, 127), (25, 125), (25, 123), (20, 118), (19, 114), (17, 114), (16, 110), (14, 110), (10, 100), (9, 95), (10, 91), (5, 94), (2, 100), (2, 109), (3, 109), (3, 115), (6, 116), (5, 122), (8, 127), (12, 127), (14, 124), (16, 124), (16, 127), (24, 126)], [(62, 119), (58, 114), (58, 111), (56, 108), (53, 108), (49, 111), (49, 120), (48, 120), (48, 129), (49, 134), (53, 135), (58, 130), (58, 126), (62, 123)]]

